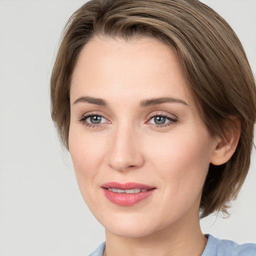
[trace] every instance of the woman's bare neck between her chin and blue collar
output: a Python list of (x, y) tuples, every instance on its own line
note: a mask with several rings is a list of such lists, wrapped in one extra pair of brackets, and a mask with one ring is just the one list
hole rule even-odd
[[(207, 238), (202, 234), (199, 219), (175, 223), (143, 237), (122, 237), (105, 230), (106, 256), (200, 256)], [(156, 253), (157, 252), (157, 253)]]

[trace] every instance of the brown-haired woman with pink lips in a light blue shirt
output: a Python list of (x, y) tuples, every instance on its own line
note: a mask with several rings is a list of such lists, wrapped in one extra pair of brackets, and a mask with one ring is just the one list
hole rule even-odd
[(204, 235), (246, 177), (254, 78), (230, 26), (197, 0), (91, 0), (69, 19), (52, 119), (105, 227), (91, 255), (255, 255)]

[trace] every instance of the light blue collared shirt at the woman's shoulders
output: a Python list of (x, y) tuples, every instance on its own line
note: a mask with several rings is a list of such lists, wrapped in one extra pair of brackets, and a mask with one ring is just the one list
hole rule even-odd
[[(256, 244), (237, 244), (230, 240), (220, 240), (207, 234), (208, 241), (201, 256), (256, 256)], [(105, 242), (102, 242), (89, 256), (102, 256)]]

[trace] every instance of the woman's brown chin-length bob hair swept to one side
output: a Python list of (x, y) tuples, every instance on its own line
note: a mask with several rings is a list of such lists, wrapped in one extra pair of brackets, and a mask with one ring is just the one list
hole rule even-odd
[(225, 138), (230, 116), (240, 119), (237, 148), (225, 164), (209, 165), (200, 202), (201, 218), (214, 211), (227, 213), (248, 172), (256, 118), (255, 80), (234, 31), (198, 0), (86, 2), (67, 21), (50, 80), (51, 116), (67, 149), (72, 72), (79, 52), (95, 36), (149, 36), (174, 49), (212, 137)]

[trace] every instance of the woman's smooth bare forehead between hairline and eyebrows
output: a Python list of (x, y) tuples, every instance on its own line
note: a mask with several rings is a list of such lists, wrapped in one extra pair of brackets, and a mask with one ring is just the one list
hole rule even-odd
[(176, 52), (149, 37), (129, 41), (95, 37), (89, 41), (78, 56), (70, 98), (83, 94), (118, 95), (123, 100), (173, 96), (191, 102)]

